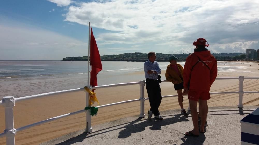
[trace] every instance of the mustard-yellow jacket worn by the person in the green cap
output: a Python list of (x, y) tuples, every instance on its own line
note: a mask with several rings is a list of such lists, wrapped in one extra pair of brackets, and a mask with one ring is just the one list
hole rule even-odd
[[(180, 64), (176, 64), (178, 69), (179, 69), (179, 72), (183, 78), (183, 67), (180, 65)], [(177, 74), (177, 72), (172, 69), (170, 67), (170, 64), (167, 66), (166, 68), (166, 80), (168, 80), (169, 82), (173, 82), (173, 81), (178, 81), (178, 83), (173, 83), (173, 84), (179, 84), (179, 83), (182, 83), (182, 79), (180, 78), (180, 76)]]

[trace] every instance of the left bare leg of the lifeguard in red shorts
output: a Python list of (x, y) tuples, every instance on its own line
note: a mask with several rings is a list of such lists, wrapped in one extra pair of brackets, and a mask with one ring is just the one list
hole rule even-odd
[(192, 122), (193, 122), (193, 130), (190, 131), (195, 135), (199, 135), (199, 128), (198, 128), (198, 112), (197, 112), (197, 102), (194, 100), (190, 100), (190, 108), (191, 108), (191, 115), (192, 115)]

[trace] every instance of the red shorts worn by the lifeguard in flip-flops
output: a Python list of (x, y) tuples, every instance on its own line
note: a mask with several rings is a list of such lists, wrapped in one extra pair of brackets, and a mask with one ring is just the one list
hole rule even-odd
[(209, 91), (189, 91), (188, 92), (188, 99), (198, 101), (201, 100), (208, 100), (210, 99), (210, 92)]

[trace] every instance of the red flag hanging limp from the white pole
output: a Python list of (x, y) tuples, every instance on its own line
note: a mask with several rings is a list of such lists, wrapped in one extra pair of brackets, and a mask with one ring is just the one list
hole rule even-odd
[(99, 54), (99, 50), (95, 41), (95, 37), (93, 36), (93, 30), (91, 28), (91, 43), (90, 43), (90, 65), (92, 66), (91, 70), (91, 79), (90, 85), (97, 86), (97, 74), (99, 71), (103, 69), (101, 63), (101, 57)]

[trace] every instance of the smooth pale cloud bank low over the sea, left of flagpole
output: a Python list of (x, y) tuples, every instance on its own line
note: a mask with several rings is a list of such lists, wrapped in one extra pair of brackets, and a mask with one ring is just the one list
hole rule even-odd
[(62, 60), (87, 55), (88, 44), (39, 28), (0, 24), (0, 60)]

